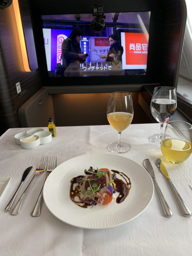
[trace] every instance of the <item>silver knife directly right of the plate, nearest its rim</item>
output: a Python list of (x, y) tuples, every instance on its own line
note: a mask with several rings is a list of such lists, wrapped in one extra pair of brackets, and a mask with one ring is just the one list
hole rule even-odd
[(172, 215), (173, 215), (173, 214), (172, 214), (172, 211), (171, 211), (171, 209), (169, 208), (169, 205), (167, 204), (167, 202), (166, 202), (166, 200), (165, 200), (165, 198), (164, 198), (164, 196), (163, 196), (163, 193), (161, 192), (161, 189), (159, 188), (159, 185), (158, 185), (158, 183), (157, 183), (157, 181), (156, 181), (155, 173), (154, 173), (154, 171), (153, 171), (153, 167), (152, 167), (152, 165), (151, 165), (150, 160), (149, 160), (149, 159), (145, 159), (145, 160), (143, 161), (143, 164), (144, 164), (146, 170), (148, 171), (148, 173), (150, 174), (150, 176), (151, 176), (151, 178), (152, 178), (152, 180), (153, 180), (153, 183), (154, 183), (154, 185), (155, 185), (155, 188), (156, 188), (156, 191), (157, 191), (157, 195), (159, 196), (159, 200), (160, 200), (160, 202), (161, 202), (161, 205), (162, 205), (162, 208), (163, 208), (163, 212), (164, 212), (165, 217), (167, 217), (167, 218), (172, 217)]

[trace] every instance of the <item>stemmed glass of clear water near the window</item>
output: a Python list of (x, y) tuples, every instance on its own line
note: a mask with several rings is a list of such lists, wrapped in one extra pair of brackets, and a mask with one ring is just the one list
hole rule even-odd
[(177, 108), (176, 88), (171, 86), (155, 87), (150, 108), (153, 117), (161, 124), (161, 130), (159, 134), (149, 136), (149, 140), (161, 143), (163, 125), (172, 118)]

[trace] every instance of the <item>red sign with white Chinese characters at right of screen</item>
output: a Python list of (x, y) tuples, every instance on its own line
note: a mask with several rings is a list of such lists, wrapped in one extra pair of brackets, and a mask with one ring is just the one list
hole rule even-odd
[(125, 33), (126, 65), (147, 65), (148, 38), (145, 33)]

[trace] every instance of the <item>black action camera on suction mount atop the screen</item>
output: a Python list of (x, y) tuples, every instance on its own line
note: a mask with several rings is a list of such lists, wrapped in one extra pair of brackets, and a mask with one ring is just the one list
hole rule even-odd
[(103, 5), (93, 5), (92, 6), (92, 14), (93, 16), (96, 16), (92, 22), (91, 26), (95, 31), (100, 31), (105, 27), (105, 21), (102, 18), (106, 18), (104, 16), (104, 6)]

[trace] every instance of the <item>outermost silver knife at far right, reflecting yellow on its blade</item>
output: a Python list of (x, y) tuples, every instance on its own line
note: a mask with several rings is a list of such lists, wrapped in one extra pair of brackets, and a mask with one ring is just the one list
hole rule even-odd
[(189, 210), (189, 208), (187, 207), (187, 205), (185, 204), (185, 202), (183, 201), (183, 199), (181, 198), (180, 194), (178, 193), (177, 189), (175, 188), (175, 186), (173, 185), (169, 174), (164, 166), (163, 161), (161, 160), (161, 158), (157, 158), (155, 160), (156, 166), (159, 168), (159, 170), (163, 173), (163, 175), (165, 176), (166, 180), (168, 181), (170, 187), (172, 188), (172, 191), (174, 192), (174, 195), (179, 203), (179, 206), (182, 210), (182, 213), (184, 214), (184, 217), (191, 217), (192, 213)]

